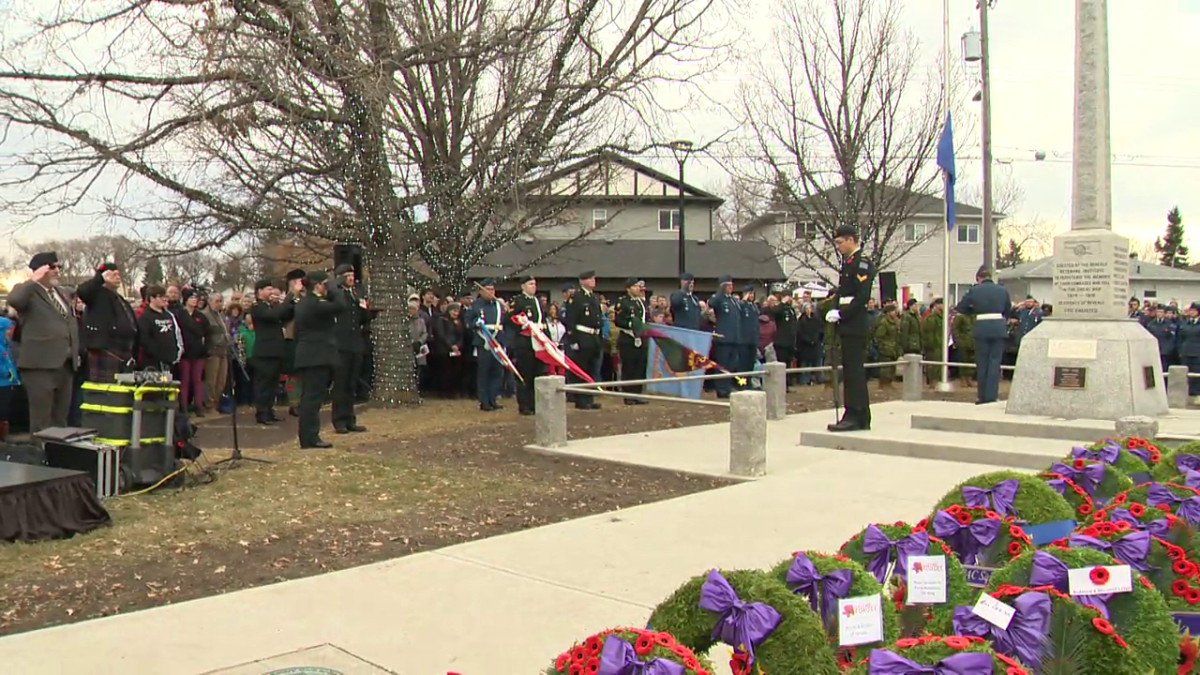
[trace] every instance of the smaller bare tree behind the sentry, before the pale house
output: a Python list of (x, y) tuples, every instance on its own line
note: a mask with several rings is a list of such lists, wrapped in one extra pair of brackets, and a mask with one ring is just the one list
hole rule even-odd
[(941, 192), (941, 88), (918, 68), (900, 14), (896, 0), (784, 0), (742, 94), (744, 154), (761, 157), (745, 178), (782, 213), (758, 221), (758, 235), (823, 279), (838, 267), (836, 226), (858, 226), (884, 269), (922, 243), (905, 237), (912, 216), (941, 208), (924, 197)]

